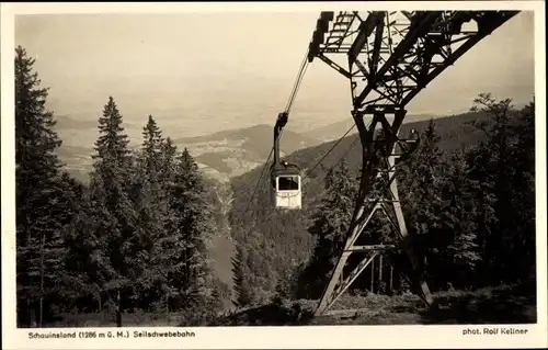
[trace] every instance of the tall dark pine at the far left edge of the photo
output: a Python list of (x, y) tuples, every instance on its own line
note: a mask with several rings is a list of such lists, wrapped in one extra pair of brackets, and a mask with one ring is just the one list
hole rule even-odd
[(41, 326), (47, 297), (59, 283), (65, 248), (55, 216), (62, 193), (56, 154), (61, 142), (34, 63), (24, 48), (15, 49), (18, 315), (20, 324), (37, 320)]

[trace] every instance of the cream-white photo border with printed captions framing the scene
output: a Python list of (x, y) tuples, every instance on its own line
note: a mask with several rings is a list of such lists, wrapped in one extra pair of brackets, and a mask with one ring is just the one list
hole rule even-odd
[[(83, 328), (18, 329), (15, 323), (14, 191), (14, 18), (54, 13), (161, 12), (319, 12), (323, 10), (401, 9), (522, 10), (535, 12), (537, 324), (515, 325), (524, 336), (463, 336), (483, 326), (294, 326), (85, 328), (124, 331), (128, 338), (31, 339), (31, 332), (72, 332)], [(365, 348), (545, 348), (547, 347), (546, 229), (546, 36), (544, 1), (361, 1), (361, 2), (187, 2), (187, 3), (2, 3), (1, 4), (1, 140), (2, 140), (2, 348), (3, 349), (365, 349)], [(312, 31), (312, 29), (310, 29)], [(311, 33), (311, 32), (310, 32)], [(504, 327), (513, 327), (505, 325)], [(136, 338), (135, 331), (192, 331), (195, 337)]]

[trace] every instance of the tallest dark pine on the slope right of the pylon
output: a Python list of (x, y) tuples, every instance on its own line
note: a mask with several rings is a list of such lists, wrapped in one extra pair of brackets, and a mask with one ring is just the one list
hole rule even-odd
[(487, 140), (470, 151), (469, 162), (483, 213), (479, 238), (488, 269), (484, 272), (493, 281), (506, 278), (499, 271), (506, 270), (506, 264), (511, 263), (509, 255), (514, 236), (514, 216), (520, 211), (513, 204), (511, 110), (511, 100), (495, 101), (490, 93), (481, 93), (472, 106), (472, 111), (482, 111), (492, 116), (491, 123), (487, 125), (476, 124), (487, 134)]

